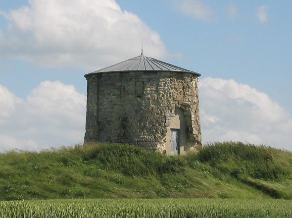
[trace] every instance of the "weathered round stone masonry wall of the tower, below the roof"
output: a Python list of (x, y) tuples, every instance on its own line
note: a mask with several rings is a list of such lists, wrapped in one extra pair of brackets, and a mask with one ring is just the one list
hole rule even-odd
[[(198, 77), (177, 72), (114, 72), (87, 76), (85, 142), (118, 142), (165, 151), (175, 109), (184, 110), (189, 150), (201, 146)], [(138, 95), (138, 83), (143, 96)]]

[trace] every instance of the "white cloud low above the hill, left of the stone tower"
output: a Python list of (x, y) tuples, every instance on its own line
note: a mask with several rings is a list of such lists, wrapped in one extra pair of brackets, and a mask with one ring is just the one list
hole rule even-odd
[(39, 150), (83, 140), (86, 97), (74, 86), (45, 81), (26, 99), (0, 87), (0, 102), (3, 100), (9, 104), (1, 110), (6, 112), (0, 123), (0, 151)]

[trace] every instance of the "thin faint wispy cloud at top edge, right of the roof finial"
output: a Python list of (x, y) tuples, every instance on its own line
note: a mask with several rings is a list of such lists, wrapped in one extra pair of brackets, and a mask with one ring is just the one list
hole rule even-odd
[(213, 10), (201, 0), (175, 0), (175, 7), (195, 19), (210, 21), (214, 17)]

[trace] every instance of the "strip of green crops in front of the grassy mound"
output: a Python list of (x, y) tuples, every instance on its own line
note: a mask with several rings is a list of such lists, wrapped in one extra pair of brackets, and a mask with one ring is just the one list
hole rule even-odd
[(0, 218), (292, 218), (290, 200), (85, 199), (0, 202)]

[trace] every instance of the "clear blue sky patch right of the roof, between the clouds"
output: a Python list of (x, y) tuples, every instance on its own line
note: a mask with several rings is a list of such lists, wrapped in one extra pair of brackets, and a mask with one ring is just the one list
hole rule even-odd
[[(233, 78), (266, 92), (292, 112), (292, 2), (205, 1), (213, 20), (179, 13), (170, 0), (117, 0), (159, 32), (167, 48), (186, 59), (172, 62), (205, 76)], [(154, 3), (155, 2), (155, 3)], [(231, 18), (230, 5), (236, 6)], [(267, 6), (267, 21), (256, 12)]]

